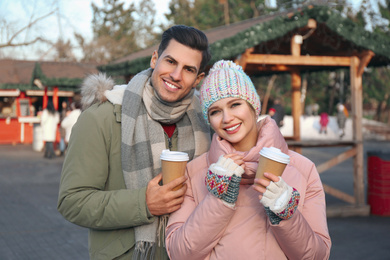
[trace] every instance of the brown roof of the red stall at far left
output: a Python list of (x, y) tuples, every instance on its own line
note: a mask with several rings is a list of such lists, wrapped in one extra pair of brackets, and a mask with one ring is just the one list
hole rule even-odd
[(98, 73), (97, 65), (3, 59), (0, 60), (0, 89), (25, 91), (58, 87), (59, 90), (76, 91), (85, 76)]

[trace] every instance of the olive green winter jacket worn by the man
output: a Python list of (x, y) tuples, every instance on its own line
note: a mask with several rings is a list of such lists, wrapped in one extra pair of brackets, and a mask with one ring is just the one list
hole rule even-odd
[[(68, 221), (89, 228), (91, 259), (131, 258), (133, 227), (154, 220), (145, 192), (146, 187), (128, 190), (125, 186), (121, 106), (108, 101), (92, 105), (72, 129), (58, 198), (58, 211)], [(156, 259), (168, 259), (165, 248), (157, 248)]]

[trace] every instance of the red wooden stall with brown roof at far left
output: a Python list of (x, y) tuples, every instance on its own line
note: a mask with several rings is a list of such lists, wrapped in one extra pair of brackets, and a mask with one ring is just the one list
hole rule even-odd
[(96, 64), (0, 60), (0, 144), (33, 144), (43, 148), (40, 113), (48, 99), (61, 111), (70, 104)]

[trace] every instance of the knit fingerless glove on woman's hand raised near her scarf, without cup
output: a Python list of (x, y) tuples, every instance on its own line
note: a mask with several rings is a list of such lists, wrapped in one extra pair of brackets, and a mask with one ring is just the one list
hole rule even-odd
[(207, 189), (215, 197), (234, 205), (243, 173), (241, 166), (221, 155), (218, 161), (209, 167), (205, 178)]

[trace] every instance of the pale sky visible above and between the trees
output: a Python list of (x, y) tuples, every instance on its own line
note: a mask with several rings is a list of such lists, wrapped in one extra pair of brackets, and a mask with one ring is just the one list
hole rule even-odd
[[(141, 0), (123, 0), (126, 7), (130, 3), (138, 4)], [(168, 4), (170, 0), (153, 0), (156, 5), (157, 20), (166, 23), (164, 14), (169, 12)], [(362, 0), (349, 0), (353, 4), (359, 4)], [(374, 0), (378, 1), (378, 0)], [(380, 0), (379, 0), (380, 1)], [(43, 36), (57, 41), (59, 37), (62, 37), (65, 41), (68, 39), (74, 45), (76, 41), (74, 39), (74, 33), (80, 33), (87, 41), (92, 39), (92, 8), (91, 3), (97, 6), (102, 6), (102, 0), (0, 0), (0, 22), (1, 19), (5, 19), (10, 24), (11, 31), (16, 32), (23, 26), (38, 17), (50, 13), (56, 7), (59, 7), (61, 16), (51, 15), (48, 18), (40, 21), (38, 26), (34, 26), (34, 29), (29, 31), (29, 34), (22, 34), (18, 39), (23, 40), (26, 36), (33, 36), (34, 34), (43, 33)], [(0, 23), (0, 43), (5, 42), (9, 38), (6, 35), (7, 31), (2, 28)], [(36, 60), (43, 57), (49, 57), (50, 50), (42, 50), (40, 54), (34, 54), (34, 47), (22, 47), (22, 48), (5, 48), (0, 51), (5, 52), (7, 55), (11, 55), (15, 59), (29, 59)], [(48, 51), (48, 52), (46, 52)], [(47, 54), (49, 53), (49, 54)], [(75, 52), (76, 56), (80, 56), (81, 53)], [(1, 53), (0, 53), (1, 58)], [(43, 58), (44, 59), (44, 58)]]

